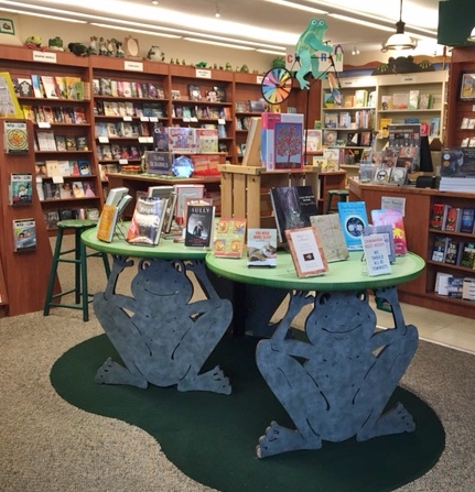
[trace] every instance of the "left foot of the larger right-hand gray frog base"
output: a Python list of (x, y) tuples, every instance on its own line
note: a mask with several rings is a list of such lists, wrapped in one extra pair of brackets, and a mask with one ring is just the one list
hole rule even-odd
[(296, 451), (299, 449), (320, 449), (322, 439), (317, 435), (304, 438), (299, 430), (292, 430), (272, 422), (266, 429), (266, 434), (259, 438), (256, 447), (258, 458), (279, 455), (285, 451)]

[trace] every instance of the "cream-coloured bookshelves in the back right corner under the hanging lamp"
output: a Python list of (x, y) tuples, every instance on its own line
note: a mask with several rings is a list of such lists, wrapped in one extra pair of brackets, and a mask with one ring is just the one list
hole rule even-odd
[[(327, 134), (330, 131), (332, 142), (327, 144), (327, 147), (342, 151), (339, 165), (348, 172), (349, 176), (353, 176), (358, 174), (359, 160), (363, 153), (369, 149), (369, 145), (367, 145), (368, 132), (370, 133), (369, 143), (373, 142), (374, 133), (378, 132), (376, 143), (377, 149), (381, 149), (387, 143), (386, 129), (388, 124), (427, 123), (429, 125), (430, 139), (438, 136), (441, 141), (444, 141), (444, 132), (451, 130), (449, 122), (445, 124), (447, 78), (449, 70), (342, 77), (342, 105), (336, 106), (330, 101), (330, 107), (328, 102), (325, 103), (325, 101), (330, 98), (331, 90), (328, 83), (324, 80), (322, 89), (324, 146), (326, 129)], [(360, 106), (360, 102), (356, 102), (358, 90), (366, 90), (368, 99), (373, 92), (373, 101), (368, 101), (367, 106), (364, 106), (365, 102), (363, 102), (363, 106)], [(406, 109), (395, 107), (395, 95), (399, 95), (396, 99), (399, 98), (407, 102), (408, 107)], [(417, 107), (409, 107), (410, 95), (417, 98)], [(421, 109), (420, 98), (425, 95), (431, 96), (431, 106)], [(369, 122), (366, 123), (365, 119), (357, 118), (357, 114), (366, 116)], [(327, 124), (325, 124), (325, 119)], [(344, 128), (342, 128), (342, 122)], [(357, 138), (359, 145), (355, 145), (354, 141), (352, 142), (352, 136), (355, 133), (359, 134)], [(361, 135), (364, 133), (366, 135), (361, 145)], [(338, 141), (338, 145), (336, 145), (336, 141)]]

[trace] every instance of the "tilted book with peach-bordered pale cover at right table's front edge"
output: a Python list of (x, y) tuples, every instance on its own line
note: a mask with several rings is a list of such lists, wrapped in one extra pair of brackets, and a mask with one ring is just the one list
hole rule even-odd
[(315, 228), (287, 230), (285, 238), (299, 277), (322, 275), (328, 271), (322, 242)]

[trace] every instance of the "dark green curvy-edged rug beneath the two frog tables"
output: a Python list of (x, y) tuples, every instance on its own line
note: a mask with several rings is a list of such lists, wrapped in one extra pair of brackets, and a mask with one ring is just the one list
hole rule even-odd
[(256, 343), (252, 338), (226, 337), (206, 363), (208, 369), (222, 365), (233, 383), (230, 396), (98, 385), (94, 376), (102, 362), (109, 357), (120, 361), (106, 335), (64, 353), (53, 365), (51, 381), (72, 405), (147, 430), (185, 474), (223, 492), (392, 491), (438, 462), (445, 446), (443, 426), (429, 405), (401, 387), (390, 404), (406, 406), (414, 433), (365, 442), (325, 441), (316, 451), (258, 459), (255, 447), (270, 422), (293, 424), (256, 367)]

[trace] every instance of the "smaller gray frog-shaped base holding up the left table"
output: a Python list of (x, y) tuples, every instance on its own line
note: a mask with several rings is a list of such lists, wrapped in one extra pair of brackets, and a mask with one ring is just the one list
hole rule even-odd
[[(132, 280), (132, 297), (117, 294), (116, 285), (126, 256), (114, 258), (105, 292), (94, 296), (94, 310), (123, 364), (108, 359), (96, 382), (147, 387), (176, 384), (179, 391), (230, 394), (231, 386), (219, 367), (199, 371), (226, 332), (233, 306), (220, 299), (207, 278), (202, 261), (139, 260)], [(190, 303), (193, 271), (206, 299)]]

